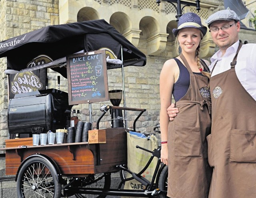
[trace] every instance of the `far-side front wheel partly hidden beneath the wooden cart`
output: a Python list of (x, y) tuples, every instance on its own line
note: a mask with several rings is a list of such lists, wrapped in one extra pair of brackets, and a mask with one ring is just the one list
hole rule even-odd
[[(82, 181), (81, 187), (109, 189), (111, 184), (111, 173), (91, 174)], [(105, 198), (106, 195), (99, 194), (75, 194), (76, 198)]]

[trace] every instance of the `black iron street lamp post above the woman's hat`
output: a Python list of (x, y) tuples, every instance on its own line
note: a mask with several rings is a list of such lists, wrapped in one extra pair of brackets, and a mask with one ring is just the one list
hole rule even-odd
[[(200, 0), (196, 0), (196, 3), (190, 3), (190, 2), (185, 2), (185, 1), (181, 1), (181, 0), (156, 0), (156, 3), (159, 4), (162, 2), (162, 1), (166, 1), (170, 4), (172, 4), (175, 8), (176, 8), (176, 11), (177, 11), (177, 15), (175, 16), (176, 17), (176, 21), (178, 22), (180, 16), (182, 16), (182, 10), (183, 8), (185, 8), (186, 6), (196, 6), (196, 10), (199, 12), (199, 10), (201, 9), (200, 8)], [(177, 6), (173, 3), (176, 3)], [(184, 6), (181, 8), (181, 4), (184, 4)]]

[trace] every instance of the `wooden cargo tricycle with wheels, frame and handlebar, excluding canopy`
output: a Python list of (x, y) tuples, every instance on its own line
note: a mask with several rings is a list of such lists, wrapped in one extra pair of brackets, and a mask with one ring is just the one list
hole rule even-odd
[[(107, 106), (107, 110), (111, 108), (116, 107)], [(124, 107), (121, 109), (145, 111)], [(6, 140), (6, 174), (16, 174), (18, 197), (166, 197), (168, 169), (160, 162), (161, 148), (148, 151), (137, 146), (138, 149), (152, 153), (152, 156), (140, 173), (132, 173), (126, 167), (126, 129), (104, 130), (106, 143), (98, 144), (81, 142), (33, 146), (31, 138)], [(154, 157), (158, 159), (158, 163), (152, 180), (147, 180), (142, 173)], [(111, 189), (111, 174), (115, 172), (120, 172), (121, 182), (117, 189)], [(125, 172), (132, 176), (126, 178)], [(124, 190), (122, 185), (131, 179), (142, 183), (145, 189)]]

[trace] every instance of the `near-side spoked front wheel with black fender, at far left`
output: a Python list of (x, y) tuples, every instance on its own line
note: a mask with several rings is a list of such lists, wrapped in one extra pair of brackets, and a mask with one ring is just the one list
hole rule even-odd
[(40, 157), (28, 159), (17, 179), (19, 198), (60, 198), (61, 184), (52, 165)]

